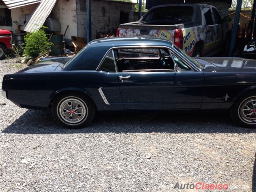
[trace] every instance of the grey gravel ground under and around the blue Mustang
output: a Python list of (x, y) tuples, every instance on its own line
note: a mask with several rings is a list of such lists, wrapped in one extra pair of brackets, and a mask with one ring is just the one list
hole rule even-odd
[[(14, 66), (0, 61), (1, 84)], [(174, 190), (176, 182), (256, 192), (256, 130), (227, 113), (102, 114), (69, 130), (50, 111), (0, 97), (0, 125), (1, 192), (196, 191)]]

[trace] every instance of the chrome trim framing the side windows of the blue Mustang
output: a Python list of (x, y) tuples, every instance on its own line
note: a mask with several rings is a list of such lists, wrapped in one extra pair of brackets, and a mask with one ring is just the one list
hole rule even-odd
[[(112, 47), (110, 49), (108, 49), (108, 51), (106, 52), (106, 54), (104, 55), (104, 57), (102, 58), (102, 60), (100, 61), (100, 64), (97, 66), (96, 71), (98, 71), (98, 69), (100, 68), (100, 65), (102, 64), (102, 62), (104, 61), (104, 58), (106, 57), (106, 55), (110, 52), (110, 50), (113, 50), (112, 54), (113, 54), (113, 58), (114, 60), (116, 60), (116, 58), (114, 57), (114, 49), (132, 49), (132, 48), (167, 48), (168, 50), (171, 50), (172, 52), (174, 52), (176, 55), (179, 55), (178, 51), (176, 51), (174, 48), (172, 47), (168, 47), (168, 46), (149, 46), (149, 45), (140, 45), (140, 46), (117, 46), (117, 47)], [(184, 53), (185, 54), (185, 53)], [(180, 58), (182, 58), (186, 64), (188, 64), (188, 66), (190, 66), (190, 68), (194, 69), (197, 72), (200, 72), (201, 70), (199, 68), (197, 68), (192, 62), (190, 62), (189, 60), (187, 60), (186, 58), (184, 58), (182, 55), (180, 56)], [(116, 63), (116, 62), (115, 62)], [(116, 67), (116, 73), (118, 72), (117, 66)]]

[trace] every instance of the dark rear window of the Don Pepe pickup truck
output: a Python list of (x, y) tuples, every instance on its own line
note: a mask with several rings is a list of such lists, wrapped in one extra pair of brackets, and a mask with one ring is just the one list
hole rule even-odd
[(190, 22), (193, 16), (193, 7), (190, 6), (171, 6), (161, 7), (151, 10), (143, 21), (165, 21), (177, 20), (181, 22)]

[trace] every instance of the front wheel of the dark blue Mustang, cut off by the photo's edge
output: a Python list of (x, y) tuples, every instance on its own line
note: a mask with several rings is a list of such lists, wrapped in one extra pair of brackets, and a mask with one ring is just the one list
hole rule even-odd
[(230, 116), (242, 127), (256, 128), (256, 92), (238, 98), (230, 108)]

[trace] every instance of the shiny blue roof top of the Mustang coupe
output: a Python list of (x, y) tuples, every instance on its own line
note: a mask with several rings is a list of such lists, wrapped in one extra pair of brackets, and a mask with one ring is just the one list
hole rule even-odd
[(90, 46), (108, 46), (108, 47), (122, 47), (122, 46), (172, 46), (170, 40), (159, 37), (114, 37), (101, 38), (91, 41)]

